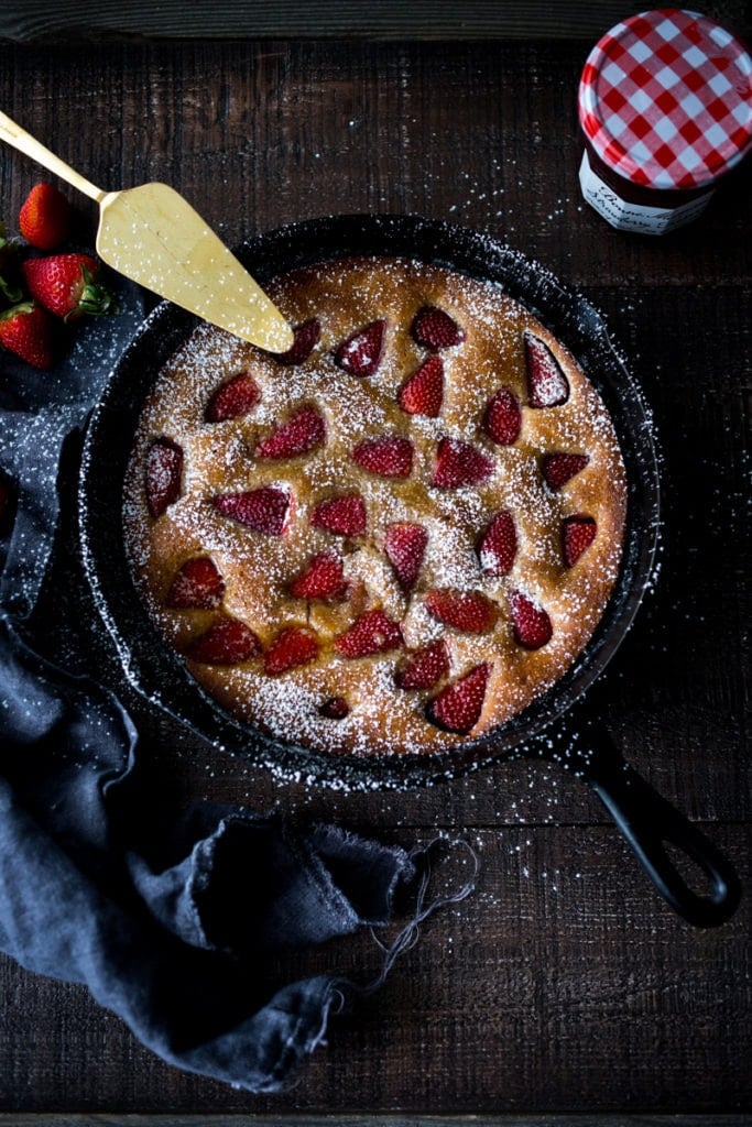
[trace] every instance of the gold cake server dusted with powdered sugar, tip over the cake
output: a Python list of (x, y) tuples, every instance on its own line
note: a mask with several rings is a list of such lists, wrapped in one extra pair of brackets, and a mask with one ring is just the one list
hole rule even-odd
[(268, 352), (291, 347), (280, 310), (169, 185), (104, 192), (2, 112), (0, 137), (99, 204), (97, 254), (113, 269)]

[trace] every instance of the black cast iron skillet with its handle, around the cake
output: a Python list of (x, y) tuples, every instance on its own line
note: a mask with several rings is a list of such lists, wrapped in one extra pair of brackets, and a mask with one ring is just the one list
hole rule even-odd
[[(722, 923), (740, 897), (726, 860), (623, 761), (598, 724), (580, 716), (574, 730), (572, 713), (567, 725), (554, 722), (572, 709), (621, 642), (651, 583), (658, 535), (658, 470), (649, 418), (602, 319), (589, 302), (508, 247), (416, 216), (327, 216), (263, 234), (239, 251), (262, 283), (284, 270), (344, 255), (401, 255), (501, 284), (569, 347), (599, 388), (621, 442), (629, 498), (623, 561), (598, 630), (548, 693), (512, 721), (450, 752), (393, 760), (326, 756), (272, 738), (230, 716), (159, 637), (135, 589), (124, 547), (123, 479), (141, 403), (160, 366), (196, 323), (189, 313), (165, 302), (144, 321), (91, 416), (80, 480), (83, 564), (127, 677), (150, 701), (213, 744), (290, 779), (405, 788), (503, 760), (556, 761), (592, 787), (680, 915), (698, 925)], [(699, 867), (709, 890), (690, 887), (666, 846)]]

